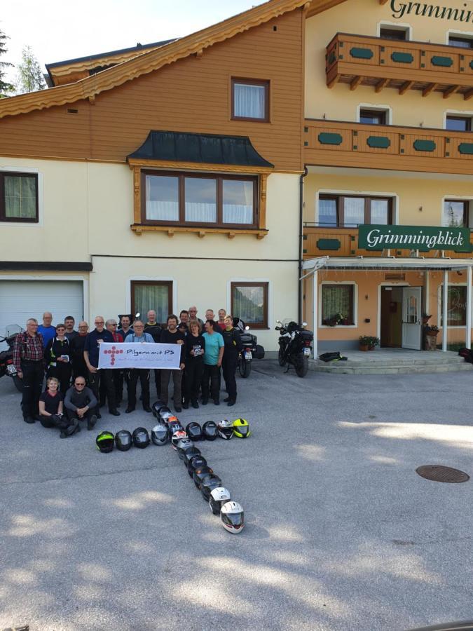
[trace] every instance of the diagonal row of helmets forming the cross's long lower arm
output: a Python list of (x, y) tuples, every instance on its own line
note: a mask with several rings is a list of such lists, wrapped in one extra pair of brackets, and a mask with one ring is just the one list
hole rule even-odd
[(245, 513), (242, 506), (232, 501), (228, 489), (222, 486), (220, 477), (207, 465), (207, 460), (200, 453), (184, 430), (178, 430), (171, 438), (172, 448), (184, 462), (188, 475), (196, 488), (209, 503), (214, 515), (220, 515), (221, 524), (228, 532), (238, 534), (245, 527)]

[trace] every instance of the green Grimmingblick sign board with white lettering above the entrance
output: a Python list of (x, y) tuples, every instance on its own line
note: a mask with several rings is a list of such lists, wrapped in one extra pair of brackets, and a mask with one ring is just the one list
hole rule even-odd
[(469, 228), (439, 226), (359, 226), (358, 247), (363, 250), (455, 250), (471, 252)]

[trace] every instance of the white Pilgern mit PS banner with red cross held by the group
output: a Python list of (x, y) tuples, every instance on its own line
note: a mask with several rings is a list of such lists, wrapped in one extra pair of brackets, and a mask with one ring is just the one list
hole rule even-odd
[(179, 344), (100, 344), (99, 368), (167, 368), (179, 369)]

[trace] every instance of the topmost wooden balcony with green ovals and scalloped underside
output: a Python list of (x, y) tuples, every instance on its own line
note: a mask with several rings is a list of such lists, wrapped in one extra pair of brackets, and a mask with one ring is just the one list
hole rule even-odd
[(427, 97), (473, 97), (473, 50), (419, 41), (337, 33), (327, 46), (327, 86), (349, 83), (373, 86), (376, 92), (395, 88), (399, 94), (421, 90)]

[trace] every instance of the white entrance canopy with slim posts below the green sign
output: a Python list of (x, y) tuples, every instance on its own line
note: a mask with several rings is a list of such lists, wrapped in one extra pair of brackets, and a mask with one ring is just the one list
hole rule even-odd
[(443, 312), (442, 312), (442, 351), (447, 350), (447, 319), (448, 319), (448, 272), (467, 271), (467, 318), (465, 346), (471, 348), (472, 335), (472, 268), (473, 259), (424, 259), (423, 257), (317, 257), (303, 262), (303, 276), (299, 279), (313, 278), (313, 313), (314, 313), (314, 356), (317, 357), (317, 328), (318, 328), (318, 285), (317, 272), (320, 269), (333, 270), (416, 270), (443, 271)]

